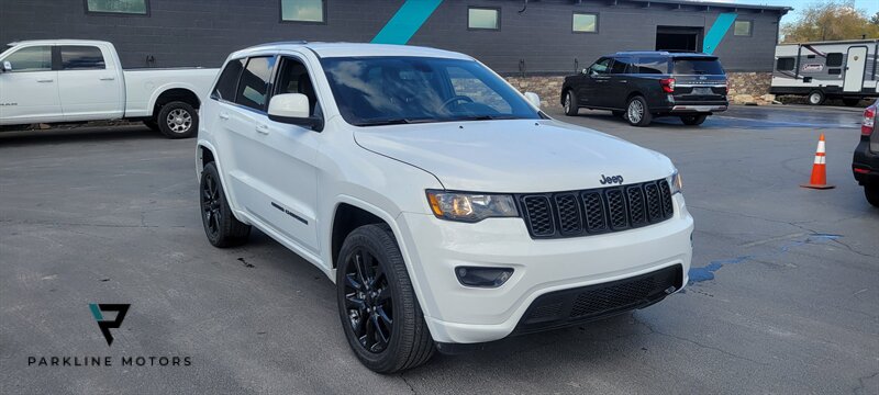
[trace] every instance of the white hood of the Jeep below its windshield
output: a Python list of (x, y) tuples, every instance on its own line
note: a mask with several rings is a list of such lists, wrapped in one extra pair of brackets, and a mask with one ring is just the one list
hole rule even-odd
[(553, 120), (443, 122), (360, 127), (357, 144), (436, 176), (448, 190), (557, 192), (657, 180), (665, 156), (623, 139)]

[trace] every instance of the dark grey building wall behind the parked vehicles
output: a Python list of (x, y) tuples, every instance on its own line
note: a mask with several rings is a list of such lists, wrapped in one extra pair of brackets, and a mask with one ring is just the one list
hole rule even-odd
[[(280, 0), (149, 0), (148, 16), (87, 14), (84, 0), (0, 0), (0, 42), (89, 38), (112, 42), (125, 67), (216, 67), (233, 50), (283, 41), (369, 42), (403, 0), (326, 0), (326, 23), (280, 22)], [(469, 54), (502, 74), (569, 74), (603, 54), (653, 49), (656, 27), (697, 26), (705, 32), (720, 12), (703, 5), (571, 0), (445, 0), (409, 44)], [(467, 29), (468, 5), (501, 9), (500, 31)], [(741, 7), (741, 5), (739, 5)], [(572, 33), (575, 11), (599, 14), (599, 32)], [(739, 8), (753, 21), (750, 36), (733, 30), (715, 50), (730, 71), (769, 71), (778, 11)], [(147, 65), (147, 56), (155, 63)]]

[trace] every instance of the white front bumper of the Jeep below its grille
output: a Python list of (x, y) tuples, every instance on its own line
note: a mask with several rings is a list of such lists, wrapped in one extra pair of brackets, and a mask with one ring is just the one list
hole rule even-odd
[[(532, 239), (522, 218), (464, 224), (433, 215), (401, 214), (398, 224), (403, 230), (410, 274), (431, 335), (446, 343), (502, 339), (516, 329), (542, 295), (663, 268), (680, 268), (679, 290), (688, 280), (693, 221), (682, 196), (676, 194), (674, 201), (675, 215), (663, 223), (565, 239)], [(458, 282), (455, 268), (460, 266), (515, 271), (500, 287), (478, 289)]]

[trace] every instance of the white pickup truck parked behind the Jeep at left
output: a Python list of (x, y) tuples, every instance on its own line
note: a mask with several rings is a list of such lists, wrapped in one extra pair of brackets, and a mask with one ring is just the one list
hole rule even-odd
[(113, 44), (101, 41), (12, 43), (0, 53), (0, 126), (125, 119), (192, 137), (216, 72), (123, 70)]

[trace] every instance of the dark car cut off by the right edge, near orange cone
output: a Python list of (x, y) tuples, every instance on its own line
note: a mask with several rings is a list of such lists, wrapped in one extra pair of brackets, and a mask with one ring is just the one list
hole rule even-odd
[(870, 204), (879, 207), (879, 99), (864, 110), (864, 122), (860, 124), (860, 143), (855, 148), (852, 159), (852, 171), (855, 180), (864, 185), (864, 194)]

